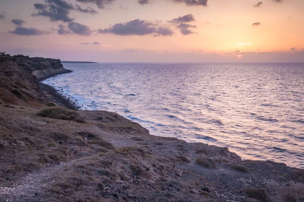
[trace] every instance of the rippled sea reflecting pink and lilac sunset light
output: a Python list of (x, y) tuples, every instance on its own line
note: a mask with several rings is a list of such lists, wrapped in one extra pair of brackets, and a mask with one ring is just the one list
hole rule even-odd
[[(64, 64), (44, 83), (157, 136), (304, 168), (304, 64)], [(63, 89), (63, 90), (62, 90)]]

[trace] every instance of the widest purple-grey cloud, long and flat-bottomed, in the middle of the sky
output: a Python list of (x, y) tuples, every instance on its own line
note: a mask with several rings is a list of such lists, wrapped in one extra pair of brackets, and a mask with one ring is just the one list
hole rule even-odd
[(172, 35), (173, 31), (167, 27), (156, 27), (154, 23), (145, 20), (131, 20), (125, 23), (117, 23), (108, 29), (98, 29), (98, 33), (107, 34), (112, 33), (115, 35), (147, 35), (156, 33), (159, 35)]

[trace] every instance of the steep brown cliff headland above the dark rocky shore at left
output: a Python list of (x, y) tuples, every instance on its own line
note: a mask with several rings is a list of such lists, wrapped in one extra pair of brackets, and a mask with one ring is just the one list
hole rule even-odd
[(41, 106), (39, 80), (68, 72), (56, 59), (0, 56), (0, 103)]

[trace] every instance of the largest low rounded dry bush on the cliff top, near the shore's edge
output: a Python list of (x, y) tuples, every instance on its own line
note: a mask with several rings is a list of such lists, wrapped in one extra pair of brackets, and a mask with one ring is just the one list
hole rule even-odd
[(78, 112), (59, 106), (42, 108), (36, 113), (36, 115), (47, 118), (72, 120), (78, 123), (86, 123), (85, 118), (82, 117)]

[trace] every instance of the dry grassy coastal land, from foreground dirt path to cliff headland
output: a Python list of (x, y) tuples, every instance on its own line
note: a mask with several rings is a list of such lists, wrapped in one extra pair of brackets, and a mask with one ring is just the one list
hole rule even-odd
[(0, 201), (304, 201), (302, 169), (149, 135), (40, 83), (68, 72), (0, 56)]

